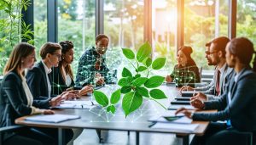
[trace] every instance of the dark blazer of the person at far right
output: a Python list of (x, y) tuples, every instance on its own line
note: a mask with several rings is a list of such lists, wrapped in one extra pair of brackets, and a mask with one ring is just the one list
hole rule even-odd
[(256, 74), (251, 69), (241, 70), (237, 82), (235, 75), (218, 100), (205, 102), (205, 109), (218, 109), (218, 112), (195, 113), (193, 120), (231, 120), (231, 125), (239, 131), (256, 131)]

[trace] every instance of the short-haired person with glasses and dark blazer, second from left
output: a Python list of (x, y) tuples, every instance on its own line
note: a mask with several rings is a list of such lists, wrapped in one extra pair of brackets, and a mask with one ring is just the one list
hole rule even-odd
[[(61, 46), (58, 43), (46, 42), (40, 48), (40, 56), (42, 61), (35, 64), (32, 70), (27, 72), (27, 83), (34, 99), (54, 99), (52, 77), (49, 73), (52, 71), (52, 67), (57, 67), (61, 61)], [(73, 92), (63, 92), (59, 96), (61, 98), (75, 98), (76, 95)]]

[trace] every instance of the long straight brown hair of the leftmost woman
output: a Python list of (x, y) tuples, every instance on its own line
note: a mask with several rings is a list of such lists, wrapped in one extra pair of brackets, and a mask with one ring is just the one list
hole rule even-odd
[(19, 75), (24, 75), (24, 72), (20, 74), (21, 69), (21, 59), (26, 58), (28, 55), (32, 54), (35, 47), (26, 42), (20, 42), (17, 44), (12, 53), (9, 55), (9, 60), (3, 69), (3, 75), (9, 73), (9, 71), (15, 70)]

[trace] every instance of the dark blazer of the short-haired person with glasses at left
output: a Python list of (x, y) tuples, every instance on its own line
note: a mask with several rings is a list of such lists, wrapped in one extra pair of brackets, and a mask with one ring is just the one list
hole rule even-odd
[[(49, 83), (52, 82), (51, 75), (49, 76)], [(48, 84), (44, 70), (44, 64), (40, 61), (35, 64), (32, 70), (29, 70), (26, 75), (27, 85), (29, 86), (34, 99), (44, 100), (48, 99)]]

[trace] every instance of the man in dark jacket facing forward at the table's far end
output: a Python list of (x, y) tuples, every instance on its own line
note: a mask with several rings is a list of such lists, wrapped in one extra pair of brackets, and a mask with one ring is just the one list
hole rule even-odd
[(108, 50), (108, 36), (99, 34), (96, 36), (96, 47), (86, 49), (79, 59), (79, 68), (76, 76), (76, 85), (85, 86), (93, 84), (102, 86), (105, 83), (113, 83), (116, 74), (109, 73), (104, 55)]

